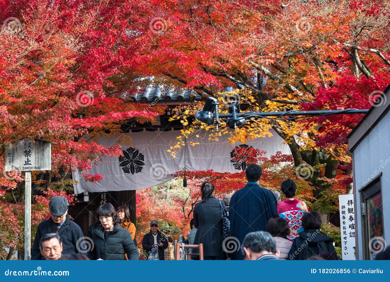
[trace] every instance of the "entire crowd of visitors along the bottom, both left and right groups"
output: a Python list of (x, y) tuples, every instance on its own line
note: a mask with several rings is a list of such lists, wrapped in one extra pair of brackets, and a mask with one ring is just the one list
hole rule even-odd
[[(321, 232), (322, 220), (310, 212), (305, 202), (295, 197), (296, 184), (285, 180), (277, 190), (261, 187), (262, 170), (257, 164), (246, 167), (248, 183), (233, 195), (216, 199), (215, 187), (205, 182), (200, 187), (202, 201), (195, 205), (191, 231), (185, 243), (203, 245), (205, 260), (337, 260), (333, 240)], [(32, 259), (64, 260), (138, 260), (135, 225), (127, 206), (117, 210), (112, 204), (96, 211), (96, 224), (83, 237), (81, 228), (67, 214), (64, 197), (49, 202), (51, 217), (38, 226)], [(147, 260), (174, 260), (174, 241), (150, 222), (150, 231), (142, 240)], [(234, 248), (229, 240), (235, 240)], [(199, 249), (192, 249), (197, 260)], [(388, 257), (389, 248), (378, 258)]]

